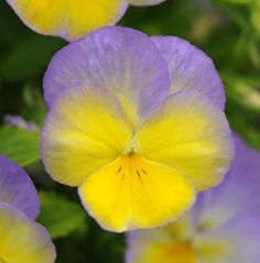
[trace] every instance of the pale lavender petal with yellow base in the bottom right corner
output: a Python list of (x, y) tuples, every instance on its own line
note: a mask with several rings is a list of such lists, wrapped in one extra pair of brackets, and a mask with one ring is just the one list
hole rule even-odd
[(260, 256), (260, 213), (235, 217), (219, 228), (196, 237), (195, 245), (203, 262), (258, 263)]

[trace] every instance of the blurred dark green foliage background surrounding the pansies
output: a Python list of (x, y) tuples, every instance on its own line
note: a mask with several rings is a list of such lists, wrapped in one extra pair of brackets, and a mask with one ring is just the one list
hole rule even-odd
[[(151, 35), (177, 35), (206, 52), (225, 84), (231, 128), (260, 149), (259, 0), (166, 0), (131, 7), (120, 24)], [(76, 189), (51, 180), (39, 161), (39, 130), (46, 113), (43, 73), (65, 44), (33, 33), (0, 0), (0, 153), (33, 177), (42, 201), (39, 221), (56, 244), (57, 263), (122, 263), (124, 237), (101, 230), (82, 209)], [(22, 116), (39, 129), (7, 125), (7, 114)]]

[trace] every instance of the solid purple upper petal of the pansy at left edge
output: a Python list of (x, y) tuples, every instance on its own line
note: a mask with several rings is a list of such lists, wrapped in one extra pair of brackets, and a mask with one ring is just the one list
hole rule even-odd
[(0, 202), (9, 204), (35, 219), (40, 211), (36, 189), (19, 165), (0, 155)]

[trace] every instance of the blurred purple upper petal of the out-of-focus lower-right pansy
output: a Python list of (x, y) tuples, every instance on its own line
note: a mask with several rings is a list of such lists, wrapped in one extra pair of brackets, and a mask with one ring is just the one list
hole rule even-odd
[(210, 191), (201, 194), (193, 208), (198, 228), (214, 228), (240, 217), (241, 212), (260, 213), (260, 153), (250, 149), (234, 134), (236, 157), (225, 180)]

